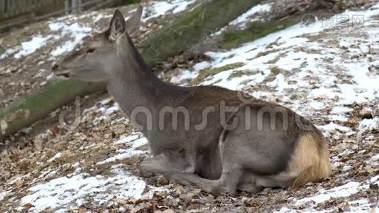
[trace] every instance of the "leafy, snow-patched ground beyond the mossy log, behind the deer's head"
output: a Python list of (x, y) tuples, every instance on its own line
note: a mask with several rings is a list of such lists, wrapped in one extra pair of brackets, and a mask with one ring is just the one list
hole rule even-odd
[[(146, 6), (140, 33), (133, 39), (141, 43), (150, 32), (180, 16), (180, 12), (187, 6), (192, 8), (196, 2), (157, 1)], [(136, 6), (123, 6), (120, 10), (127, 19)], [(53, 64), (77, 48), (87, 36), (104, 31), (113, 13), (114, 9), (104, 9), (51, 18), (0, 38), (0, 107), (43, 89), (51, 81)]]

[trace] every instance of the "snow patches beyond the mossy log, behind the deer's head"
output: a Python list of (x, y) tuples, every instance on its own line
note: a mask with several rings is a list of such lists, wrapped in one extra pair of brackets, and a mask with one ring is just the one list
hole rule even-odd
[[(180, 13), (187, 9), (187, 6), (190, 4), (194, 4), (194, 2), (194, 0), (152, 1), (152, 3), (146, 6), (143, 11), (143, 21), (148, 21), (150, 18), (158, 18), (167, 15), (167, 13)], [(129, 11), (129, 13), (125, 14), (126, 20), (134, 11), (135, 10)], [(94, 14), (96, 14), (96, 17), (94, 17), (95, 23), (102, 18), (111, 18), (109, 15), (97, 12), (86, 13), (80, 16), (69, 15), (57, 18), (49, 23), (50, 35), (32, 35), (29, 40), (22, 42), (20, 47), (6, 50), (6, 53), (0, 55), (0, 59), (12, 55), (14, 55), (14, 58), (16, 59), (19, 59), (22, 56), (31, 55), (35, 50), (48, 45), (49, 41), (53, 42), (54, 40), (59, 40), (65, 36), (70, 37), (70, 40), (67, 40), (66, 43), (62, 43), (62, 45), (52, 50), (50, 54), (57, 57), (65, 53), (70, 53), (79, 43), (82, 43), (83, 38), (96, 32), (89, 26), (83, 26), (78, 22), (83, 18), (92, 17)]]

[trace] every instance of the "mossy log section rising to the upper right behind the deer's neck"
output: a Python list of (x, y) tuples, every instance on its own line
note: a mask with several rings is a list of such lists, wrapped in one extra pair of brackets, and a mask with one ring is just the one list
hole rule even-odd
[(143, 58), (151, 64), (153, 61), (177, 55), (259, 3), (260, 0), (204, 1), (177, 21), (167, 24), (157, 33), (152, 33), (148, 42), (143, 45)]

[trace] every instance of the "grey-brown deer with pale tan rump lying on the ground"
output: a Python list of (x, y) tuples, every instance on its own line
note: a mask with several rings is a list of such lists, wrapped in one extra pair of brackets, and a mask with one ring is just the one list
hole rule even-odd
[[(142, 7), (53, 67), (55, 75), (107, 82), (109, 93), (148, 138), (141, 176), (165, 175), (206, 192), (259, 192), (329, 177), (322, 133), (294, 111), (214, 86), (179, 87), (145, 65), (131, 40)], [(242, 94), (242, 95), (241, 95)]]

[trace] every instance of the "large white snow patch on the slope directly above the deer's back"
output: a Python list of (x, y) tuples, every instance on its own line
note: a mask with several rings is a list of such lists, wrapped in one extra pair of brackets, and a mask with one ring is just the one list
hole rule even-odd
[[(377, 6), (373, 6), (367, 11), (346, 11), (340, 16), (353, 16), (365, 13), (366, 24), (369, 24), (371, 21), (370, 17), (379, 14)], [(265, 7), (265, 9), (268, 8), (268, 6)], [(243, 17), (241, 17), (242, 19)], [(244, 65), (242, 67), (219, 72), (216, 75), (207, 77), (200, 84), (213, 84), (228, 89), (243, 89), (251, 85), (267, 85), (273, 88), (273, 90), (270, 92), (253, 91), (251, 94), (257, 98), (280, 97), (282, 102), (286, 104), (290, 102), (290, 106), (287, 107), (305, 116), (311, 115), (314, 111), (335, 106), (331, 109), (330, 119), (334, 122), (347, 121), (349, 117), (348, 113), (353, 109), (345, 106), (350, 106), (354, 102), (372, 102), (379, 98), (379, 87), (377, 86), (379, 75), (371, 73), (368, 75), (368, 65), (370, 65), (370, 62), (366, 58), (361, 58), (358, 62), (356, 60), (346, 60), (346, 58), (336, 55), (341, 50), (329, 47), (330, 45), (326, 40), (323, 43), (307, 38), (309, 35), (318, 35), (325, 29), (338, 31), (334, 27), (327, 26), (319, 19), (312, 27), (297, 24), (254, 40), (251, 43), (246, 43), (239, 48), (222, 52), (208, 52), (207, 55), (212, 58), (210, 62), (200, 62), (194, 65), (195, 68), (192, 70), (181, 70), (179, 75), (172, 77), (171, 82), (183, 84), (184, 80), (195, 79), (199, 75), (200, 70), (197, 67), (224, 67), (236, 62), (243, 62)], [(359, 28), (362, 28), (362, 26)], [(350, 32), (352, 30), (348, 28), (346, 31)], [(376, 45), (376, 40), (378, 40), (377, 34), (373, 32), (379, 31), (379, 28), (365, 28), (365, 31), (369, 35), (372, 35), (369, 41), (371, 49), (373, 49), (373, 45)], [(341, 38), (346, 38), (346, 42), (353, 45), (359, 45), (359, 42), (362, 41), (361, 37), (343, 36)], [(346, 45), (346, 43), (341, 43), (341, 45)], [(308, 53), (305, 50), (312, 51)], [(358, 48), (356, 51), (358, 51), (356, 54), (361, 54), (362, 52)], [(353, 55), (353, 53), (351, 51), (350, 54)], [(332, 65), (328, 65), (328, 62), (325, 61), (329, 59), (331, 59)], [(274, 80), (265, 82), (266, 78), (270, 76), (273, 67), (280, 68), (280, 73), (275, 76)], [(329, 67), (339, 67), (339, 72), (344, 73), (346, 77), (351, 77), (350, 82), (342, 82), (338, 72), (329, 70)], [(238, 72), (238, 70), (258, 70), (258, 72), (256, 75), (229, 79), (229, 76), (232, 73)], [(290, 100), (290, 95), (294, 93), (300, 94), (300, 97), (305, 97), (309, 101)], [(314, 100), (312, 101), (312, 99)], [(374, 121), (363, 121), (361, 122), (361, 126), (369, 126), (367, 128), (373, 129), (376, 125), (375, 121), (375, 119)], [(322, 129), (330, 133), (350, 131), (350, 128), (334, 122), (322, 126)]]

